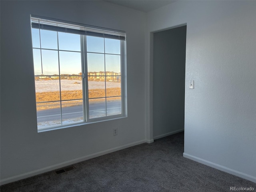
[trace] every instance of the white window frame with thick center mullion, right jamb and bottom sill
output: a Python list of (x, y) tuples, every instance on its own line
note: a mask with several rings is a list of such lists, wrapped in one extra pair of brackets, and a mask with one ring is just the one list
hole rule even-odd
[[(68, 24), (68, 26), (82, 26), (84, 29), (92, 30), (93, 32), (107, 32), (108, 34), (120, 34), (125, 36), (124, 31), (120, 30), (111, 30), (101, 27), (95, 27), (95, 26), (89, 26), (84, 24), (78, 24), (74, 22), (68, 22), (64, 20), (56, 20), (53, 18), (46, 18), (41, 16), (35, 16), (31, 15), (31, 19), (34, 18), (40, 18), (43, 21), (50, 21), (50, 22), (60, 22), (60, 24)], [(108, 37), (106, 37), (108, 38)], [(85, 39), (85, 40), (84, 40)], [(39, 127), (38, 132), (45, 132), (49, 130), (57, 130), (62, 128), (69, 128), (69, 127), (75, 127), (75, 126), (82, 126), (86, 124), (92, 124), (92, 123), (98, 123), (98, 122), (104, 122), (109, 120), (115, 120), (119, 118), (126, 118), (127, 117), (127, 70), (126, 70), (126, 41), (120, 40), (120, 57), (121, 57), (121, 114), (116, 115), (110, 115), (110, 116), (103, 116), (103, 117), (97, 117), (97, 118), (89, 118), (89, 106), (88, 106), (88, 71), (87, 71), (87, 60), (86, 60), (86, 35), (84, 35), (81, 40), (81, 59), (82, 61), (82, 82), (83, 82), (83, 108), (84, 108), (84, 121), (83, 122), (74, 122), (70, 124), (64, 124), (64, 125), (58, 125), (58, 126), (45, 126), (45, 127)], [(83, 48), (82, 48), (83, 46)], [(41, 49), (41, 48), (40, 48)], [(105, 53), (104, 53), (105, 54)], [(84, 68), (85, 67), (85, 68)], [(105, 74), (106, 75), (106, 74)], [(108, 98), (107, 96), (104, 97), (105, 99)], [(107, 110), (107, 108), (106, 108)]]

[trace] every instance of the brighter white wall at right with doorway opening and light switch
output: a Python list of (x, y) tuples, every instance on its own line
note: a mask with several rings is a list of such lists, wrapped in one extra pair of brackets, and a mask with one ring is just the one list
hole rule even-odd
[[(148, 13), (148, 40), (150, 32), (184, 23), (184, 156), (256, 182), (256, 1), (174, 2)], [(152, 58), (149, 96), (150, 69)]]

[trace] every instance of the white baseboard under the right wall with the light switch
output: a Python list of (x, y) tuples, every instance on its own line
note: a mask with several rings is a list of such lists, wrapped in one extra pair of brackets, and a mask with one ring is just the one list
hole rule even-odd
[(210, 161), (198, 158), (196, 156), (192, 156), (190, 154), (183, 153), (183, 156), (185, 158), (191, 159), (193, 161), (202, 163), (202, 164), (210, 166), (212, 168), (216, 168), (218, 170), (227, 172), (229, 174), (232, 174), (232, 175), (235, 175), (235, 176), (238, 176), (238, 177), (241, 177), (241, 178), (244, 178), (246, 180), (249, 180), (249, 181), (252, 181), (252, 182), (256, 183), (256, 177), (254, 177), (254, 176), (251, 176), (251, 175), (248, 175), (248, 174), (245, 174), (245, 173), (242, 173), (242, 172), (239, 172), (239, 171), (236, 171), (236, 170), (224, 167), (222, 165), (219, 165), (219, 164), (216, 164), (216, 163), (213, 163), (213, 162), (210, 162)]

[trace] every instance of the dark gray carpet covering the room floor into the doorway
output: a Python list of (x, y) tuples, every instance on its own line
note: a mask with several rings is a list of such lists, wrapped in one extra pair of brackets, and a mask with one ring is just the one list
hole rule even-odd
[(1, 192), (230, 192), (256, 184), (186, 159), (184, 132), (0, 187)]

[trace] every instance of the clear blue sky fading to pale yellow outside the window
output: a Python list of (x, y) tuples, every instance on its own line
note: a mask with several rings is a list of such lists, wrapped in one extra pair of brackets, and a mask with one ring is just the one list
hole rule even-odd
[[(52, 50), (42, 50), (41, 47)], [(32, 42), (35, 75), (79, 74), (82, 72), (80, 35), (32, 28)], [(104, 50), (105, 43), (105, 50)], [(59, 44), (59, 58), (58, 58)], [(114, 71), (120, 73), (120, 40), (86, 36), (87, 71)], [(105, 52), (105, 54), (104, 54)], [(106, 66), (104, 66), (106, 65)]]

